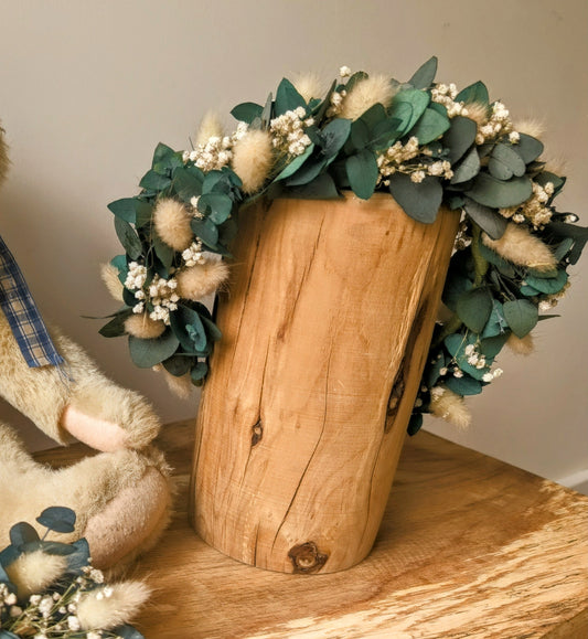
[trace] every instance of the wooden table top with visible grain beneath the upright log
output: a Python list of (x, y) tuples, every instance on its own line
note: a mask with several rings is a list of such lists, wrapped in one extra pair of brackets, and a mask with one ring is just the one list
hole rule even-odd
[[(408, 439), (376, 545), (330, 575), (239, 564), (186, 519), (193, 422), (164, 427), (177, 512), (135, 573), (147, 639), (588, 637), (588, 498), (427, 433)], [(56, 466), (84, 447), (36, 457)], [(133, 574), (135, 576), (135, 574)]]

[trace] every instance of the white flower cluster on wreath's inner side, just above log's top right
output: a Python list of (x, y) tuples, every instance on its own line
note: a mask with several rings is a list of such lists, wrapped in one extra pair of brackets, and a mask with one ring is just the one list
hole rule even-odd
[(423, 182), (427, 175), (442, 177), (450, 180), (453, 177), (451, 162), (448, 160), (437, 160), (434, 162), (411, 162), (417, 156), (430, 156), (428, 148), (420, 148), (418, 138), (413, 136), (403, 145), (400, 141), (395, 142), (392, 147), (381, 152), (377, 158), (377, 168), (379, 171), (378, 183), (385, 187), (389, 185), (389, 178), (394, 173), (408, 173), (410, 180), (417, 184)]

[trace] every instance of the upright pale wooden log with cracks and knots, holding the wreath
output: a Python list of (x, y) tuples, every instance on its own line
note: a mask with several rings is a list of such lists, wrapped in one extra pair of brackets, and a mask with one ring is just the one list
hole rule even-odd
[(386, 194), (240, 213), (196, 425), (204, 541), (285, 573), (370, 553), (458, 224), (449, 211), (416, 222)]

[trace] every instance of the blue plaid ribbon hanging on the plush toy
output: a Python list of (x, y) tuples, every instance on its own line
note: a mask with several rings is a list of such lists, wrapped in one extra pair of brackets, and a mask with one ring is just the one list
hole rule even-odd
[(0, 237), (0, 308), (7, 316), (19, 348), (30, 368), (63, 363), (26, 281), (8, 246)]

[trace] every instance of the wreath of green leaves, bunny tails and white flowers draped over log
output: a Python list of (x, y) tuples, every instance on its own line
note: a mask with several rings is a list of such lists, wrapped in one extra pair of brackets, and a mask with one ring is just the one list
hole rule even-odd
[(492, 366), (505, 344), (532, 351), (531, 331), (554, 317), (539, 311), (564, 295), (588, 228), (554, 207), (565, 178), (541, 159), (537, 126), (513, 124), (482, 82), (458, 92), (436, 72), (436, 57), (406, 83), (342, 67), (325, 95), (312, 76), (285, 78), (265, 106), (231, 111), (232, 135), (209, 115), (191, 151), (160, 143), (141, 192), (109, 205), (126, 253), (103, 277), (125, 306), (101, 334), (129, 334), (138, 366), (201, 384), (221, 339), (202, 298), (227, 277), (239, 211), (259, 198), (387, 191), (423, 223), (441, 205), (462, 212), (442, 296), (448, 318), (436, 327), (408, 430), (429, 412), (468, 424), (463, 396), (501, 374)]

